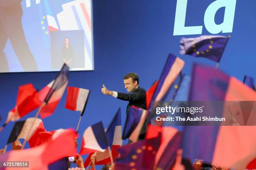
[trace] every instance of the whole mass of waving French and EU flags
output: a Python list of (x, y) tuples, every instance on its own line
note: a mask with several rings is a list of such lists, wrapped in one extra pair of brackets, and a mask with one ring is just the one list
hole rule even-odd
[[(228, 39), (212, 35), (182, 38), (180, 53), (206, 57), (219, 64)], [(179, 148), (183, 149), (183, 156), (190, 160), (202, 159), (226, 168), (256, 166), (253, 162), (256, 158), (256, 126), (168, 126), (166, 122), (152, 119), (156, 106), (151, 101), (165, 101), (166, 105), (172, 105), (173, 101), (256, 101), (252, 77), (246, 75), (240, 82), (221, 70), (199, 64), (194, 65), (192, 75), (183, 75), (184, 64), (173, 54), (167, 57), (159, 79), (146, 92), (147, 110), (131, 107), (123, 132), (120, 108), (106, 129), (102, 122), (97, 122), (84, 130), (79, 154), (89, 154), (84, 161), (85, 167), (91, 164), (90, 156), (96, 152), (96, 165), (115, 163), (116, 170), (168, 170), (174, 165)], [(7, 152), (0, 155), (0, 161), (29, 160), (31, 169), (48, 169), (77, 154), (75, 140), (90, 90), (67, 88), (65, 107), (80, 112), (76, 131), (47, 131), (41, 120), (54, 113), (66, 90), (68, 75), (69, 67), (64, 64), (56, 78), (39, 92), (32, 84), (19, 87), (15, 107), (8, 113), (0, 130), (8, 122), (16, 121), (5, 150), (9, 143), (21, 138), (25, 139), (23, 147), (28, 141), (31, 148)], [(36, 109), (35, 117), (18, 121)], [(41, 119), (38, 118), (39, 113)], [(148, 124), (146, 138), (138, 140), (145, 122)], [(248, 117), (246, 120), (243, 117), (243, 122), (246, 125)], [(131, 144), (122, 146), (125, 139), (129, 139)]]

